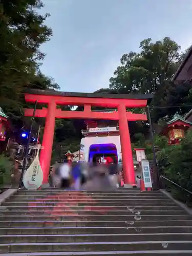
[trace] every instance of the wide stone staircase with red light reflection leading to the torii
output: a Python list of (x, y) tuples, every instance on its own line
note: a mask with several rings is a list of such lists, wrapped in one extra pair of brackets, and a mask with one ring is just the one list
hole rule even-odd
[(0, 207), (0, 255), (192, 255), (192, 218), (160, 191), (20, 190)]

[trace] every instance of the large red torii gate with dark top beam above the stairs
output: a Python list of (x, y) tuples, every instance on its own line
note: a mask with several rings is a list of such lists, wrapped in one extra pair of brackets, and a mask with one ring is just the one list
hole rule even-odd
[[(147, 100), (153, 98), (150, 94), (118, 95), (98, 93), (71, 93), (43, 90), (30, 90), (25, 94), (27, 102), (48, 104), (48, 108), (37, 109), (35, 117), (45, 117), (45, 130), (42, 139), (44, 149), (40, 152), (40, 164), (44, 172), (43, 183), (48, 182), (49, 167), (52, 155), (52, 145), (55, 129), (55, 118), (77, 119), (108, 119), (119, 121), (123, 175), (125, 184), (135, 184), (135, 172), (127, 121), (147, 120), (146, 114), (126, 112), (126, 108), (143, 108)], [(84, 105), (84, 111), (62, 111), (57, 105)], [(91, 106), (117, 108), (117, 112), (93, 112)], [(25, 116), (33, 116), (33, 109), (25, 109)]]

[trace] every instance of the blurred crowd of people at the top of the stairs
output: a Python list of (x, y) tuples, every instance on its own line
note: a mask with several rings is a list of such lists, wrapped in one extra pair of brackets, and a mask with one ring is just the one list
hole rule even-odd
[(123, 186), (122, 171), (112, 163), (55, 163), (50, 172), (50, 185), (74, 190), (113, 190)]

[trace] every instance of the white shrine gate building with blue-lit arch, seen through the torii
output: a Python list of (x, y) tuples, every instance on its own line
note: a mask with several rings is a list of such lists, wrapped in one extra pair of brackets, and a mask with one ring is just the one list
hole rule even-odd
[[(113, 113), (116, 109), (99, 110), (99, 112)], [(96, 111), (94, 111), (96, 112)], [(84, 161), (97, 162), (105, 158), (109, 163), (122, 161), (119, 123), (117, 120), (86, 120), (86, 130), (82, 130), (81, 151)]]

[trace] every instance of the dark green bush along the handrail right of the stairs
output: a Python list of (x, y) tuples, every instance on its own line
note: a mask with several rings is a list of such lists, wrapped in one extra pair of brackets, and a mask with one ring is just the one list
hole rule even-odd
[[(192, 132), (186, 133), (179, 145), (167, 145), (157, 153), (161, 175), (183, 188), (192, 190)], [(192, 195), (185, 190), (165, 182), (166, 188), (178, 200), (192, 206)]]

